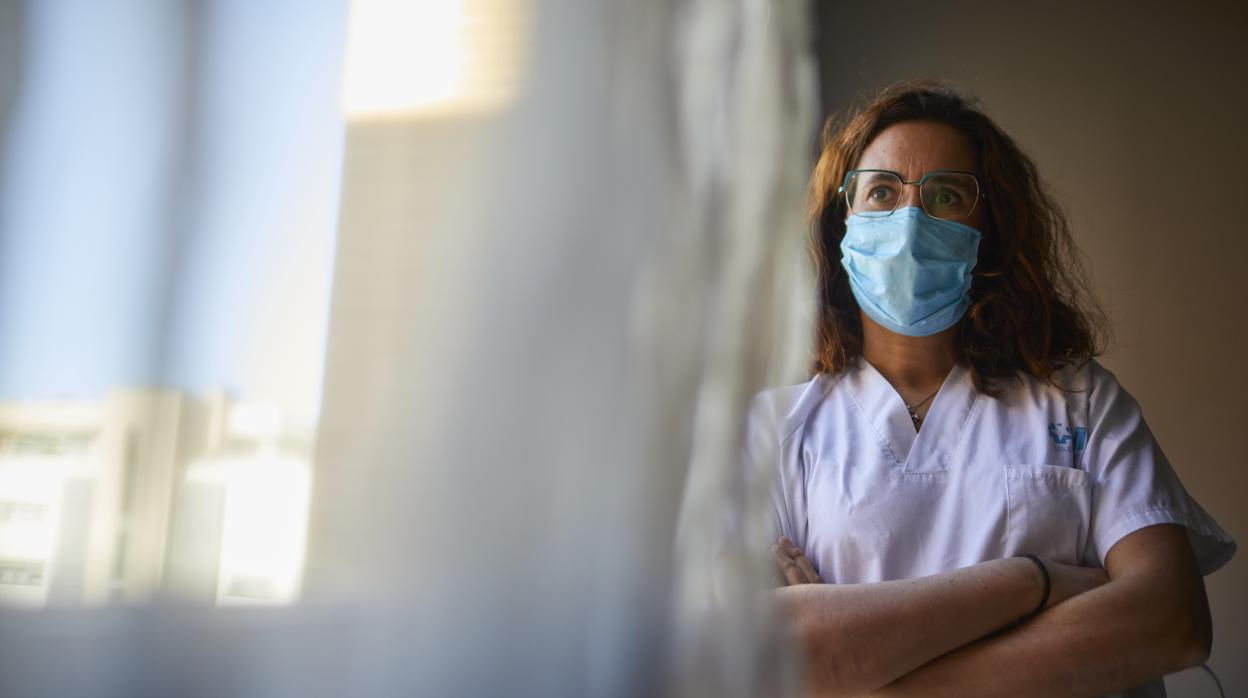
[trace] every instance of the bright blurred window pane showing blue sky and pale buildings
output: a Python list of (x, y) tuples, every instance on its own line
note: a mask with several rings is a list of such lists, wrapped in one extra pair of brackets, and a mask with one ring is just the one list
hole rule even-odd
[(0, 606), (288, 603), (346, 2), (0, 7)]

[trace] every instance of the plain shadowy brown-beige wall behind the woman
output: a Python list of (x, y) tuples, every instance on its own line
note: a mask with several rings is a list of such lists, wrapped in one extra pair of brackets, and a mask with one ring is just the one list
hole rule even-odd
[[(829, 111), (907, 77), (978, 95), (1070, 212), (1102, 362), (1188, 491), (1248, 541), (1248, 10), (1229, 2), (816, 2)], [(1248, 553), (1208, 577), (1211, 666), (1248, 691)], [(1196, 694), (1191, 677), (1172, 696)]]

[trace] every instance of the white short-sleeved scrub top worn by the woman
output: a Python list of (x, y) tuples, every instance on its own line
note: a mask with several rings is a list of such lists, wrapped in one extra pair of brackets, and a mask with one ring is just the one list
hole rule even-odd
[(862, 358), (760, 393), (746, 457), (775, 471), (775, 532), (829, 583), (1022, 553), (1103, 566), (1157, 523), (1187, 527), (1202, 573), (1226, 564), (1234, 541), (1183, 489), (1136, 400), (1096, 361), (1058, 376), (1075, 392), (1023, 377), (992, 398), (955, 366), (917, 433)]

